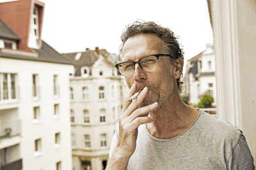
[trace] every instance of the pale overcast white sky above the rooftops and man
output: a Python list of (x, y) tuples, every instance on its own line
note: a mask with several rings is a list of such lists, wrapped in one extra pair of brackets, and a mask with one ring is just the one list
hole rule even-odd
[(179, 37), (185, 64), (213, 42), (206, 0), (40, 1), (45, 3), (42, 39), (60, 53), (98, 46), (118, 54), (122, 31), (138, 19), (170, 28)]

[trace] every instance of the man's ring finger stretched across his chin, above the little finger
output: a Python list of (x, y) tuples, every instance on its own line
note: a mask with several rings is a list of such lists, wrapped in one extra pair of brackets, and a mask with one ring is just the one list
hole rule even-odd
[(127, 120), (125, 120), (125, 122), (132, 122), (135, 118), (137, 117), (147, 117), (147, 114), (150, 112), (150, 111), (153, 111), (157, 108), (158, 106), (158, 103), (153, 103), (153, 104), (150, 104), (148, 106), (144, 106), (142, 108), (138, 108), (137, 110), (133, 111), (131, 113), (131, 115), (127, 118)]

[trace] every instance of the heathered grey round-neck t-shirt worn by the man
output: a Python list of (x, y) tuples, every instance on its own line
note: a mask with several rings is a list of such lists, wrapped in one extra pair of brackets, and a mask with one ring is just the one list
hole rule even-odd
[[(118, 138), (115, 132), (109, 156)], [(152, 136), (138, 128), (136, 150), (127, 169), (255, 169), (243, 133), (205, 111), (182, 134), (172, 139)]]

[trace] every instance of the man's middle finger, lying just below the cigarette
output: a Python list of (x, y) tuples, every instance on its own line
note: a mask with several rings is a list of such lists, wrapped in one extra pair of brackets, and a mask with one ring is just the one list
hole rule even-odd
[(136, 97), (136, 99), (134, 99), (132, 101), (132, 103), (128, 106), (127, 110), (125, 110), (125, 112), (124, 112), (125, 116), (128, 117), (129, 115), (131, 115), (131, 113), (134, 110), (136, 110), (138, 108), (138, 106), (140, 106), (143, 99), (147, 96), (147, 92), (148, 92), (148, 88), (144, 87), (144, 89), (140, 92), (139, 96)]

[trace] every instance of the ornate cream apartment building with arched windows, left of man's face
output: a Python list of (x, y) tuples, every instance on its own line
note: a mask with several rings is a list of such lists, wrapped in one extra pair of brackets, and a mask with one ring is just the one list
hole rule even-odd
[(75, 66), (70, 75), (73, 169), (105, 169), (127, 92), (115, 54), (95, 48), (63, 54)]

